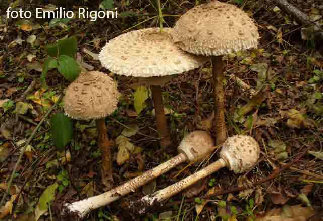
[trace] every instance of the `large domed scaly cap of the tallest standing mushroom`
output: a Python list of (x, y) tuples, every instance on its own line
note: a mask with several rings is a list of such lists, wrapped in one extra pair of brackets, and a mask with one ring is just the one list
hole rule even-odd
[(196, 6), (176, 22), (177, 45), (192, 54), (219, 56), (258, 46), (258, 28), (241, 9), (212, 1)]

